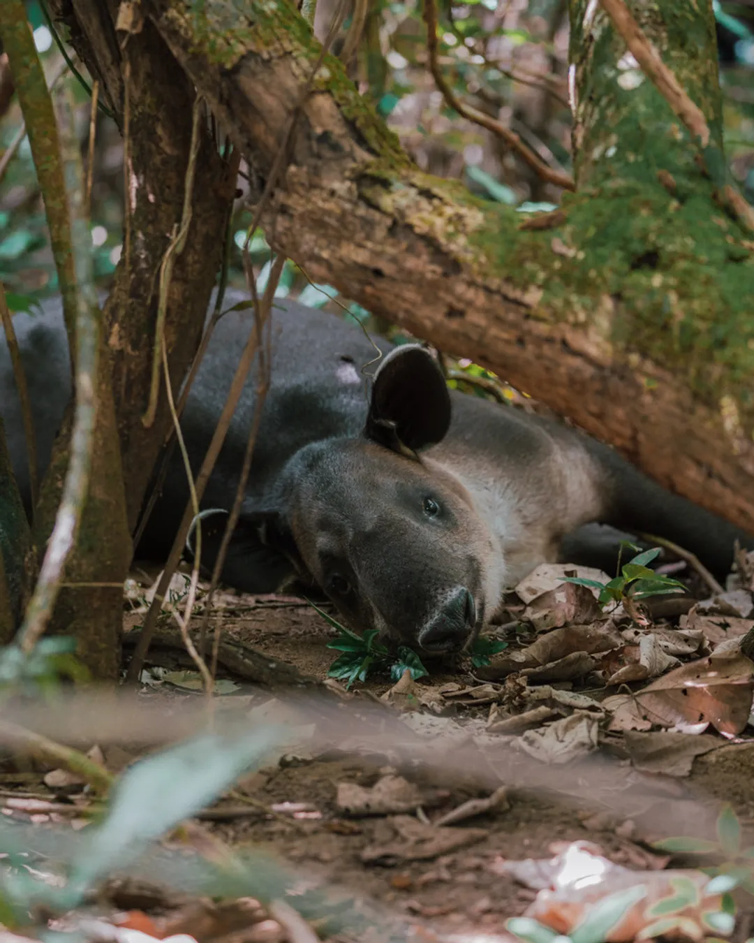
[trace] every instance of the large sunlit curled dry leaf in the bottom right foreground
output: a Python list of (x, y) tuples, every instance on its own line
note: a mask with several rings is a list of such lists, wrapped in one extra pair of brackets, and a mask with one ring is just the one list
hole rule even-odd
[[(522, 865), (527, 867), (520, 869)], [(650, 935), (647, 931), (661, 916), (680, 918), (689, 935), (700, 939), (711, 932), (706, 917), (722, 910), (722, 896), (705, 890), (710, 878), (703, 871), (635, 871), (593, 854), (581, 842), (574, 842), (542, 865), (546, 867), (535, 871), (531, 862), (506, 862), (498, 870), (504, 869), (519, 881), (534, 873), (540, 884), (549, 875), (549, 886), (539, 890), (526, 917), (557, 934), (569, 935), (599, 902), (624, 891), (631, 893), (631, 888), (636, 891), (634, 902), (601, 937), (607, 943), (629, 943)]]

